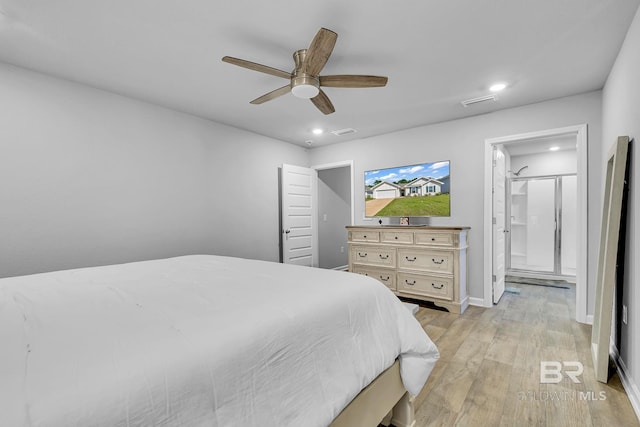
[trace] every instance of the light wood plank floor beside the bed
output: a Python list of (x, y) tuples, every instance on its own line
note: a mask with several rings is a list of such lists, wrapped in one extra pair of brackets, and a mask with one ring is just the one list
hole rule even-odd
[[(591, 326), (573, 320), (575, 290), (515, 287), (520, 294), (463, 315), (420, 307), (440, 360), (416, 398), (417, 427), (640, 426), (618, 375), (594, 378)], [(541, 384), (541, 361), (581, 362), (580, 383)]]

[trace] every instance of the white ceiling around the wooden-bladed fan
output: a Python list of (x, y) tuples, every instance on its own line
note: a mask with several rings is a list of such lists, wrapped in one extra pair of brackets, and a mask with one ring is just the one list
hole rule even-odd
[[(601, 89), (640, 0), (0, 0), (0, 61), (306, 146), (347, 141)], [(336, 112), (285, 95), (320, 27), (321, 74), (389, 77), (326, 88)], [(497, 102), (463, 107), (505, 81)], [(311, 134), (321, 127), (327, 133)], [(355, 128), (335, 136), (328, 131)]]

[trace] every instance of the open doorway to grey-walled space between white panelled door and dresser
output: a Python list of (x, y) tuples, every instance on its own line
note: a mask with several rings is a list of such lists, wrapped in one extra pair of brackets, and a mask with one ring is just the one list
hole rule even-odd
[(353, 161), (312, 166), (318, 172), (320, 268), (346, 270), (347, 225), (354, 224)]

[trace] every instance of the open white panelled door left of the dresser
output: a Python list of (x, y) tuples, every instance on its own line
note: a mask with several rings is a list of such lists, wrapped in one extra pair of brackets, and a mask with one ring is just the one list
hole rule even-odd
[(318, 267), (318, 173), (282, 165), (282, 262)]

